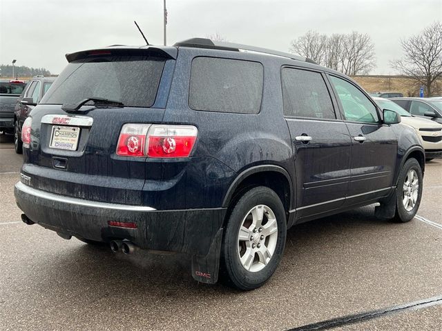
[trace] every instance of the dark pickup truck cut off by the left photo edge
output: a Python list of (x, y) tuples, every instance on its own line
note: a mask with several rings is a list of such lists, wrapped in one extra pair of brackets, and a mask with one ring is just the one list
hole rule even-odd
[(14, 132), (15, 103), (25, 86), (25, 81), (0, 79), (0, 132)]

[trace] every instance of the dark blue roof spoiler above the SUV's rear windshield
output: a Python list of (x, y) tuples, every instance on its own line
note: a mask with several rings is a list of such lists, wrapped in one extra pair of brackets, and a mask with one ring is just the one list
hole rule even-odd
[(97, 48), (96, 50), (81, 50), (80, 52), (66, 54), (68, 62), (78, 59), (90, 59), (94, 57), (108, 57), (108, 56), (149, 56), (149, 57), (165, 57), (166, 59), (177, 58), (177, 48), (175, 47), (153, 47), (144, 46), (142, 48), (128, 48), (128, 47), (109, 47)]

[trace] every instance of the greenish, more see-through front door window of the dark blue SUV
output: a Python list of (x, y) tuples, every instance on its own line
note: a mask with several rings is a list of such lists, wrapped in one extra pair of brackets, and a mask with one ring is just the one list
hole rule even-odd
[(344, 79), (330, 76), (330, 80), (338, 92), (345, 119), (356, 122), (378, 123), (379, 117), (376, 106), (365, 97), (363, 92)]

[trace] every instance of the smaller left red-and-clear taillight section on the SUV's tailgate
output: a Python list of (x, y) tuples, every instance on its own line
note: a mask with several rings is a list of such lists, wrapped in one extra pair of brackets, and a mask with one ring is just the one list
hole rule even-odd
[(124, 124), (119, 133), (117, 155), (145, 157), (146, 134), (149, 127), (149, 124)]

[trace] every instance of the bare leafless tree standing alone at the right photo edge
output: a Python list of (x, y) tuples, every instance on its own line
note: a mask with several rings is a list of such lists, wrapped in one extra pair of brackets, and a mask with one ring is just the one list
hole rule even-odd
[(392, 61), (392, 68), (425, 86), (431, 97), (436, 80), (442, 77), (442, 23), (434, 22), (419, 34), (401, 39), (401, 46), (404, 56)]

